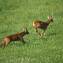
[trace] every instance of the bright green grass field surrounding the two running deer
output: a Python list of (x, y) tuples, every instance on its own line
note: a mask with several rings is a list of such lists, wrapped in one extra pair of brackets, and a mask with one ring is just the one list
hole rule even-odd
[[(41, 39), (32, 27), (35, 19), (54, 22)], [(27, 27), (26, 44), (11, 42), (0, 48), (0, 63), (63, 63), (63, 0), (0, 0), (0, 43), (3, 37)]]

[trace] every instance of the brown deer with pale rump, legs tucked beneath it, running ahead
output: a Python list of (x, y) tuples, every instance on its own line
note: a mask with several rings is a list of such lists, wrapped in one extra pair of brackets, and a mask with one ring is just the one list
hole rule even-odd
[(46, 22), (40, 21), (40, 20), (35, 20), (33, 21), (33, 27), (35, 28), (36, 32), (42, 36), (41, 33), (38, 32), (38, 29), (43, 29), (43, 34), (45, 34), (45, 31), (48, 27), (48, 25), (50, 24), (50, 22), (53, 22), (53, 17), (52, 16), (48, 16), (48, 20)]

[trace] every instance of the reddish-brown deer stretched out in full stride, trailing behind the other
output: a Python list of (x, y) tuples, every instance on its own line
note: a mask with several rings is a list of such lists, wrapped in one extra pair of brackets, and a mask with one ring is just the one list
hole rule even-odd
[(1, 43), (0, 45), (5, 47), (5, 46), (7, 46), (11, 41), (19, 41), (19, 40), (22, 40), (22, 42), (25, 43), (23, 37), (24, 37), (26, 34), (29, 34), (27, 28), (26, 28), (26, 30), (24, 30), (23, 32), (6, 36), (6, 37), (3, 39), (3, 41), (2, 41), (2, 43)]

